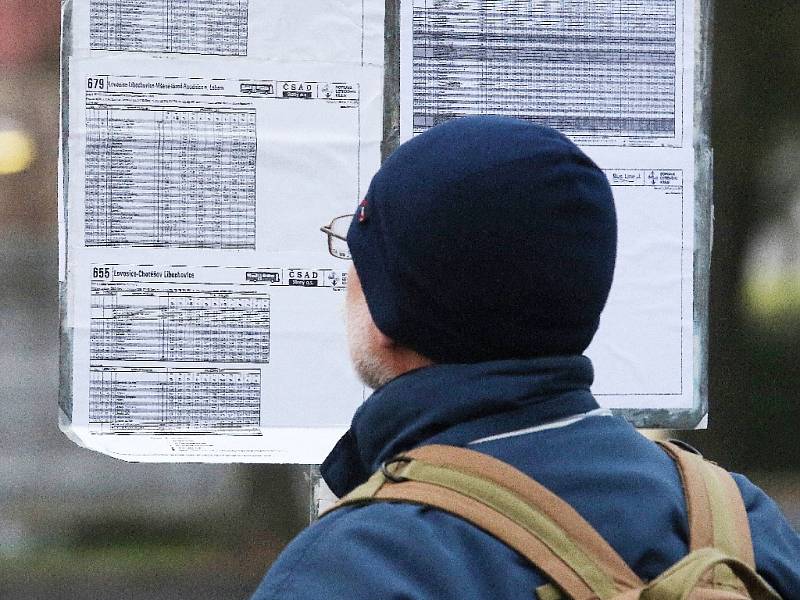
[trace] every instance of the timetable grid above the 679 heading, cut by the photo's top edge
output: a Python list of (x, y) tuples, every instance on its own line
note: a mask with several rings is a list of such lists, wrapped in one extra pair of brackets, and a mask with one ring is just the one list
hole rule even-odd
[(247, 56), (248, 13), (248, 0), (91, 0), (91, 49)]

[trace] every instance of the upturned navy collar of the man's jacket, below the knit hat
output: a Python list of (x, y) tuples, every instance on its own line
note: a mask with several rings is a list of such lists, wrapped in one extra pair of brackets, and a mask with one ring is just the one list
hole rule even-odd
[(585, 356), (434, 365), (376, 390), (322, 464), (337, 496), (381, 463), (422, 444), (463, 446), (598, 408)]

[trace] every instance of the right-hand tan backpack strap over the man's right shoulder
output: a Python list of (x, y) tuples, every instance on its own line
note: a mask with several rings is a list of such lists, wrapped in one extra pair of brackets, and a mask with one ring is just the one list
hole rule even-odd
[[(716, 548), (755, 570), (750, 523), (739, 487), (725, 469), (673, 442), (659, 442), (675, 460), (686, 496), (691, 551)], [(714, 581), (740, 587), (718, 568)]]

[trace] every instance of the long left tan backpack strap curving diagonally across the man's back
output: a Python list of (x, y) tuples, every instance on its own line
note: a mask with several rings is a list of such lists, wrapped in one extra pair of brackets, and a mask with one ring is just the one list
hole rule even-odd
[(570, 598), (612, 598), (642, 581), (566, 502), (479, 452), (426, 446), (396, 457), (337, 507), (376, 500), (433, 506), (487, 531)]

